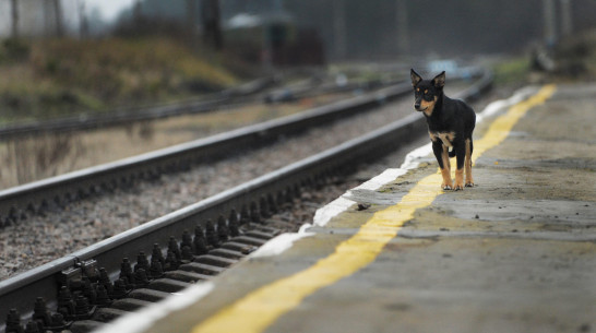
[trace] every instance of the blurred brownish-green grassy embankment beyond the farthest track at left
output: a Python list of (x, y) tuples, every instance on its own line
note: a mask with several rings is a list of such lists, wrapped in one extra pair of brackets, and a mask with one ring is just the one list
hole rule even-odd
[(0, 44), (0, 122), (157, 103), (239, 83), (228, 55), (165, 37)]

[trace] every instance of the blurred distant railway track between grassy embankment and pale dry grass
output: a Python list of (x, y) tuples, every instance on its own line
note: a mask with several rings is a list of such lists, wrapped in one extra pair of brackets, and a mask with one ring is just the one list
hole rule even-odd
[[(293, 76), (296, 73), (287, 73)], [(61, 117), (52, 120), (31, 121), (0, 127), (0, 140), (38, 135), (39, 133), (63, 133), (90, 129), (128, 126), (134, 122), (164, 119), (181, 115), (202, 114), (222, 108), (231, 108), (257, 102), (278, 103), (296, 100), (323, 94), (372, 90), (395, 81), (365, 80), (343, 84), (330, 82), (326, 74), (309, 74), (298, 84), (284, 84), (284, 75), (257, 79), (237, 87), (211, 94), (204, 98), (192, 98), (156, 106), (120, 108), (105, 114)]]

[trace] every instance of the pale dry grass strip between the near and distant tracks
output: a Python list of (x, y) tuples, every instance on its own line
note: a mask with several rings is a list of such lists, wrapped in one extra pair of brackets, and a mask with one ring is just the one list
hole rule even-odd
[(284, 117), (342, 97), (345, 95), (321, 96), (296, 104), (253, 104), (128, 127), (3, 142), (0, 143), (0, 189)]

